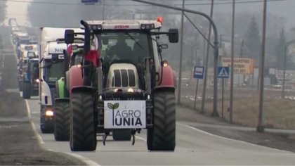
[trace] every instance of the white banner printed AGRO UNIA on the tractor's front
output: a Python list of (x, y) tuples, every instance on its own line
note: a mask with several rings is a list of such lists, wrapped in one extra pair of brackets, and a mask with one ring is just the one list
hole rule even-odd
[(142, 129), (145, 101), (105, 101), (105, 129)]

